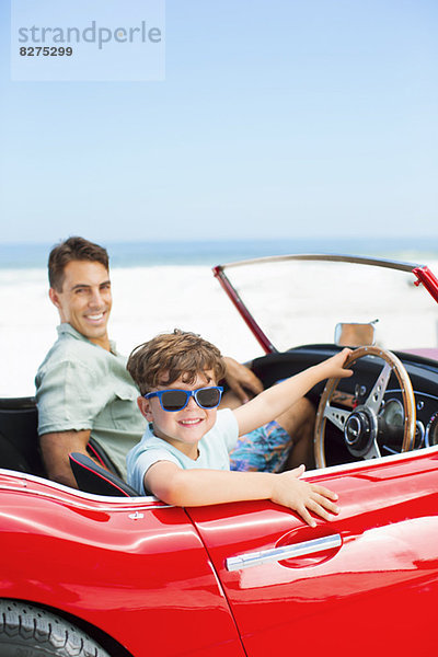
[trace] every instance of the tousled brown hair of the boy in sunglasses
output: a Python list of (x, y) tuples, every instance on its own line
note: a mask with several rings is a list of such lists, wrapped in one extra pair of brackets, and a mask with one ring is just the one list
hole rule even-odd
[[(226, 365), (217, 347), (196, 333), (175, 328), (136, 347), (127, 364), (127, 370), (141, 394), (159, 385), (169, 385), (180, 377), (193, 383), (197, 374), (212, 370), (216, 382), (223, 379)], [(162, 376), (166, 372), (166, 380)]]

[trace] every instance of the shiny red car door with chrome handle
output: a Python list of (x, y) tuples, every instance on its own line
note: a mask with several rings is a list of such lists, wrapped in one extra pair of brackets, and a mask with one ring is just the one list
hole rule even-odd
[(249, 657), (435, 654), (438, 453), (311, 479), (342, 507), (315, 529), (268, 502), (188, 510)]

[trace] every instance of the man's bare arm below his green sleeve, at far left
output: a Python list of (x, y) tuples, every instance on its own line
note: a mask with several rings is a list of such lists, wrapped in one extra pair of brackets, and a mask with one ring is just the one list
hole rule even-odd
[(43, 461), (50, 480), (71, 486), (71, 488), (78, 488), (70, 468), (69, 453), (80, 452), (90, 457), (87, 451), (90, 433), (90, 429), (85, 431), (56, 431), (39, 437)]

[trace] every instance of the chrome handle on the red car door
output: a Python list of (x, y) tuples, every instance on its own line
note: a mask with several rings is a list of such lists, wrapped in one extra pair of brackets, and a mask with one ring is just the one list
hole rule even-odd
[(341, 548), (341, 534), (323, 537), (322, 539), (313, 539), (295, 545), (285, 545), (281, 548), (272, 548), (270, 550), (262, 550), (261, 552), (249, 552), (240, 556), (230, 556), (226, 560), (227, 570), (240, 570), (241, 568), (251, 568), (269, 562), (279, 562), (297, 556), (315, 554), (324, 550), (334, 550)]

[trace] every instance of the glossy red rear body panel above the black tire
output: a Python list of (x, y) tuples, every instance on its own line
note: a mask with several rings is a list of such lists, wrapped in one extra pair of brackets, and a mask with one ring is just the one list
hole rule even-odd
[(87, 499), (4, 475), (0, 492), (3, 598), (73, 614), (136, 656), (182, 646), (199, 657), (244, 654), (184, 509)]

